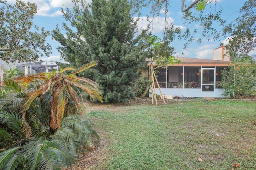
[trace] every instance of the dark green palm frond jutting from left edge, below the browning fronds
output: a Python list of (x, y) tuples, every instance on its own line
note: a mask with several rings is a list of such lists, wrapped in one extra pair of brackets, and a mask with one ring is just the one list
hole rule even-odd
[(5, 124), (16, 132), (20, 132), (22, 129), (22, 119), (15, 113), (8, 113), (6, 111), (0, 112), (0, 124)]

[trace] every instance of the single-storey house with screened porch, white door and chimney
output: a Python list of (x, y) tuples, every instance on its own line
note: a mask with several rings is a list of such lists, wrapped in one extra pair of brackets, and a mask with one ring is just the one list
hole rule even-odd
[[(230, 56), (224, 55), (223, 50), (223, 46), (214, 49), (215, 59), (177, 57), (180, 63), (169, 65), (166, 69), (156, 69), (159, 71), (156, 75), (162, 93), (179, 97), (224, 97), (220, 72), (229, 66)], [(149, 67), (150, 64), (150, 72)], [(156, 84), (155, 87), (160, 95)]]

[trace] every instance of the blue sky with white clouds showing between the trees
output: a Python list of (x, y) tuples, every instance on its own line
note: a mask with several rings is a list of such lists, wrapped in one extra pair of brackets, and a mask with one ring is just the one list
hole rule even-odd
[[(38, 12), (34, 17), (34, 24), (39, 27), (44, 27), (46, 30), (52, 31), (56, 28), (58, 24), (60, 27), (63, 22), (66, 22), (62, 17), (61, 8), (72, 8), (73, 4), (71, 0), (25, 0), (34, 2), (38, 6)], [(13, 3), (15, 0), (7, 0), (8, 3)], [(183, 25), (184, 20), (182, 20), (181, 12), (181, 1), (180, 0), (168, 0), (171, 5), (168, 9), (168, 18), (175, 26), (181, 28), (182, 30), (186, 29), (186, 26)], [(245, 0), (218, 0), (218, 3), (223, 8), (222, 16), (224, 20), (227, 20), (227, 23), (232, 22), (236, 16), (239, 15), (238, 10), (242, 7)], [(145, 27), (148, 22), (146, 19), (146, 13), (150, 12), (149, 9), (144, 9), (143, 14), (138, 22), (138, 28)], [(152, 33), (162, 37), (164, 17), (158, 17), (154, 21), (154, 27), (152, 28)], [(194, 26), (198, 27), (198, 26)], [(216, 24), (216, 28), (219, 26)], [(65, 32), (63, 32), (65, 34)], [(197, 37), (195, 37), (196, 39)], [(64, 61), (60, 58), (60, 53), (56, 49), (60, 44), (52, 40), (52, 37), (47, 38), (47, 42), (52, 46), (52, 54), (50, 57), (41, 57), (40, 59), (51, 60), (51, 61)], [(196, 42), (191, 42), (186, 50), (183, 49), (184, 41), (175, 41), (171, 43), (176, 49), (176, 56), (178, 57), (191, 57), (191, 58), (201, 58), (201, 59), (212, 59), (213, 49), (218, 48), (220, 43), (223, 42), (226, 44), (226, 40), (202, 40), (202, 43), (198, 44)], [(256, 50), (251, 51), (249, 55), (256, 55)]]

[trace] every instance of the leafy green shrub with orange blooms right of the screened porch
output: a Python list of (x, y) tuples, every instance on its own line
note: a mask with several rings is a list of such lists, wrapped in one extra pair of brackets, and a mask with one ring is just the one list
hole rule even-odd
[(244, 95), (256, 85), (256, 65), (252, 63), (233, 63), (221, 74), (224, 96), (235, 98)]

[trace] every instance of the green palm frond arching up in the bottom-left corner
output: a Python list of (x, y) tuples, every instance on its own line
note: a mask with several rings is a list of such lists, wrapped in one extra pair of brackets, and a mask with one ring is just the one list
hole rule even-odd
[(3, 169), (4, 170), (16, 170), (17, 166), (24, 163), (25, 159), (26, 159), (26, 157), (24, 156), (24, 154), (15, 153), (8, 159), (6, 164), (4, 164)]

